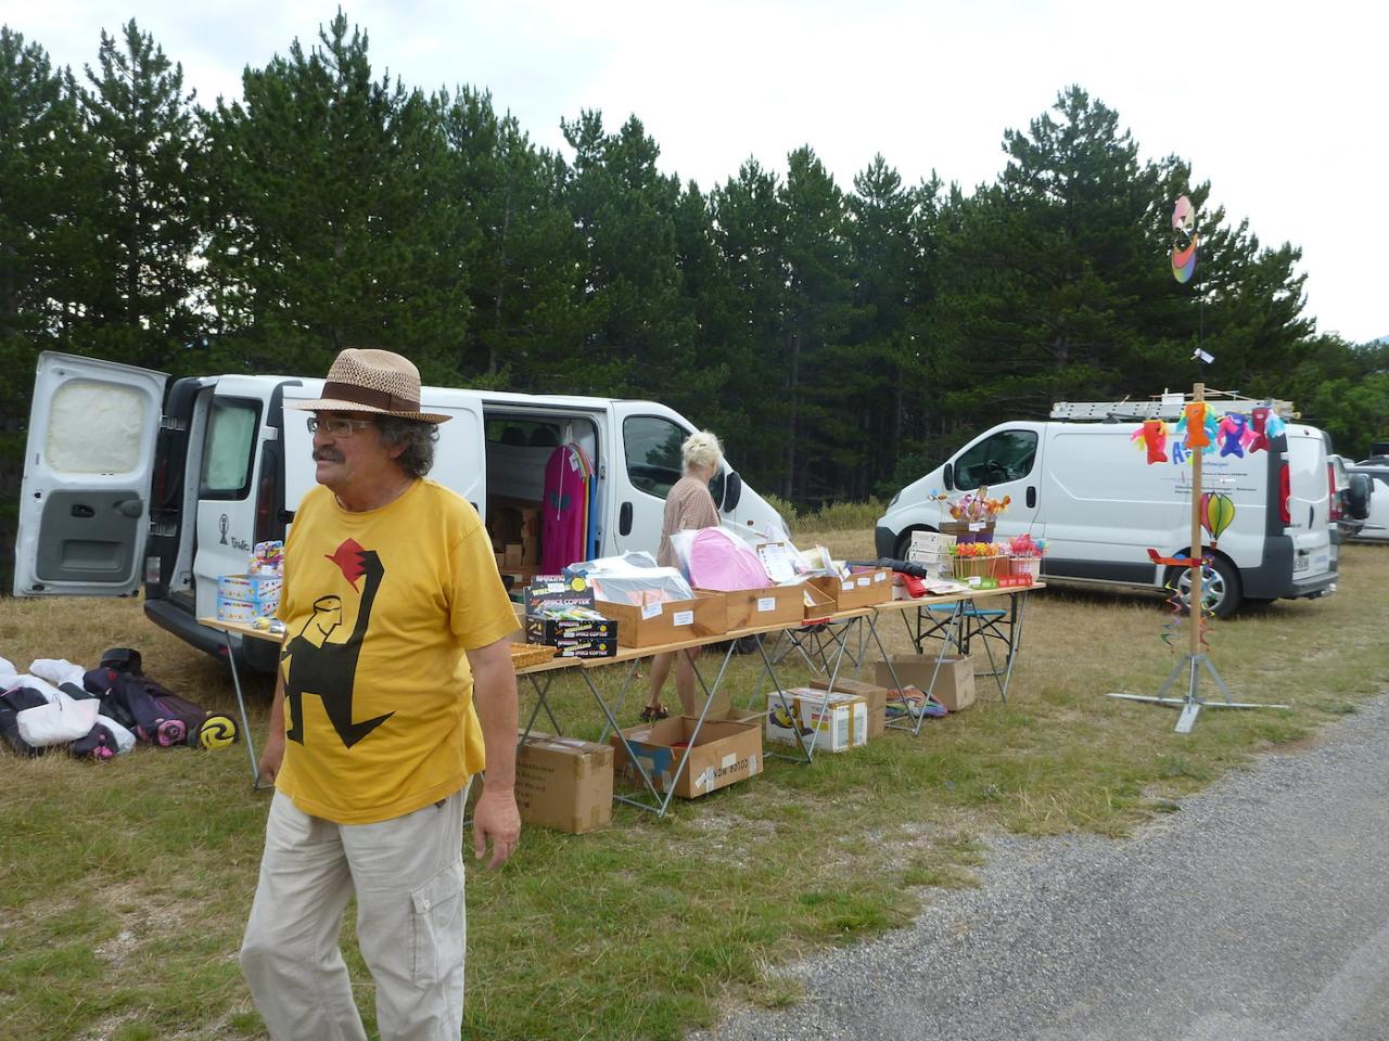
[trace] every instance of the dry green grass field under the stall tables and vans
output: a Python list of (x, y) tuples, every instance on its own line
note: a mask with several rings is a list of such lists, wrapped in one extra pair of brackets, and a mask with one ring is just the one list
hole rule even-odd
[[(861, 530), (820, 540), (870, 552)], [(1236, 698), (1286, 712), (1203, 712), (1174, 736), (1175, 711), (1104, 697), (1156, 693), (1171, 669), (1160, 598), (1050, 589), (1028, 609), (1007, 705), (981, 680), (979, 704), (917, 738), (772, 761), (664, 820), (618, 809), (589, 836), (531, 829), (504, 870), (468, 877), (467, 1035), (674, 1038), (721, 1006), (792, 1004), (801, 995), (768, 966), (900, 926), (938, 887), (972, 884), (981, 836), (1121, 836), (1354, 712), (1389, 684), (1386, 586), (1389, 550), (1345, 547), (1336, 595), (1215, 625), (1210, 654)], [(150, 675), (196, 701), (235, 705), (225, 665), (147, 623), (136, 601), (0, 602), (0, 655), (21, 669), (94, 663), (111, 645), (140, 648)], [(756, 680), (753, 659), (735, 659), (735, 700)], [(556, 687), (565, 731), (597, 736), (592, 700)], [(250, 694), (260, 741), (268, 684)], [(639, 705), (629, 697), (624, 715), (635, 722)], [(268, 801), (250, 790), (243, 745), (139, 748), (107, 765), (0, 752), (0, 1037), (264, 1037), (236, 963)], [(369, 1022), (369, 979), (349, 949)]]

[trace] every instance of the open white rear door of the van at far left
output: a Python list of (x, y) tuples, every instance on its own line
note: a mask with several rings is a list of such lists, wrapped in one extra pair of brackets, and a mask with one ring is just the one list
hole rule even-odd
[(143, 577), (163, 372), (44, 351), (29, 411), (14, 594), (129, 595)]

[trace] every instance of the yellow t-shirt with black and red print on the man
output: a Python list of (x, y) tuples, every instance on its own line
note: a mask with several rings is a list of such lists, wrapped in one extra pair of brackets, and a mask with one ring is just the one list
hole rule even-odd
[(313, 816), (367, 824), (446, 798), (483, 769), (465, 648), (517, 627), (472, 505), (417, 480), (351, 512), (315, 486), (285, 543), (285, 761)]

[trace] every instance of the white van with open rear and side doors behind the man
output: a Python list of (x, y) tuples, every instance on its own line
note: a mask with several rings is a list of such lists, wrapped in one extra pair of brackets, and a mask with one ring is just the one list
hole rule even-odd
[[(244, 570), (258, 541), (283, 539), (314, 484), (306, 414), (321, 379), (176, 380), (93, 358), (39, 358), (15, 544), (14, 594), (131, 595), (144, 613), (211, 654), (224, 637), (217, 577)], [(488, 516), (489, 498), (540, 504), (560, 444), (585, 448), (596, 480), (597, 555), (656, 552), (681, 443), (696, 426), (656, 401), (424, 387), (439, 426), (431, 477)], [(163, 405), (163, 407), (161, 407)], [(725, 464), (711, 491), (726, 525), (776, 537), (781, 516)], [(247, 641), (253, 666), (269, 644)], [(239, 652), (240, 654), (240, 652)]]

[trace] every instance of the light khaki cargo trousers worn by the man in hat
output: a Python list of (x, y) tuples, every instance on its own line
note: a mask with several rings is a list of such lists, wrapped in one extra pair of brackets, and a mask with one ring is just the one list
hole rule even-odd
[(393, 820), (335, 824), (275, 793), (242, 941), (242, 972), (275, 1041), (365, 1041), (338, 947), (354, 894), (381, 1041), (458, 1041), (465, 801), (467, 788)]

